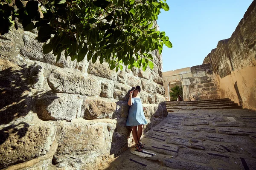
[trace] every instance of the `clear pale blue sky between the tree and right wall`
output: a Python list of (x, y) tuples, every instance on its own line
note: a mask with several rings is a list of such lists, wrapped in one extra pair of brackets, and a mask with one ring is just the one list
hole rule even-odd
[(157, 24), (172, 42), (163, 72), (201, 65), (218, 41), (230, 38), (253, 0), (166, 0)]

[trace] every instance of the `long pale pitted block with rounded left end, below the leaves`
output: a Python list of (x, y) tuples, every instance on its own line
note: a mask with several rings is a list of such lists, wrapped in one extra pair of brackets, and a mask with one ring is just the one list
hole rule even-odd
[(95, 77), (84, 77), (79, 72), (55, 69), (48, 77), (50, 88), (55, 92), (96, 96), (100, 82)]

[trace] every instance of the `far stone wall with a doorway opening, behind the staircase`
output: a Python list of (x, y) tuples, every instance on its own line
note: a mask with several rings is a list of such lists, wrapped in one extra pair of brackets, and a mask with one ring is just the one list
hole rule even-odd
[(220, 98), (218, 82), (211, 64), (163, 72), (166, 100), (169, 100), (169, 88), (173, 85), (182, 85), (184, 101)]

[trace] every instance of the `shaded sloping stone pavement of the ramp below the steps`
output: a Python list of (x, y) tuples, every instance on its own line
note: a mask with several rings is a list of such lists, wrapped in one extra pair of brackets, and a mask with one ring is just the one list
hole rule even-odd
[(140, 158), (125, 151), (110, 170), (256, 170), (256, 111), (246, 109), (171, 112), (142, 139)]

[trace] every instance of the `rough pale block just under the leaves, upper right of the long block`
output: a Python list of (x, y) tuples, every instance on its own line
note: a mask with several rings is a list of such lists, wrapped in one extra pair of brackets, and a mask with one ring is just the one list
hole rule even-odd
[(107, 63), (103, 62), (100, 64), (99, 60), (94, 64), (90, 62), (88, 73), (111, 80), (114, 80), (116, 75), (114, 70), (110, 70)]

